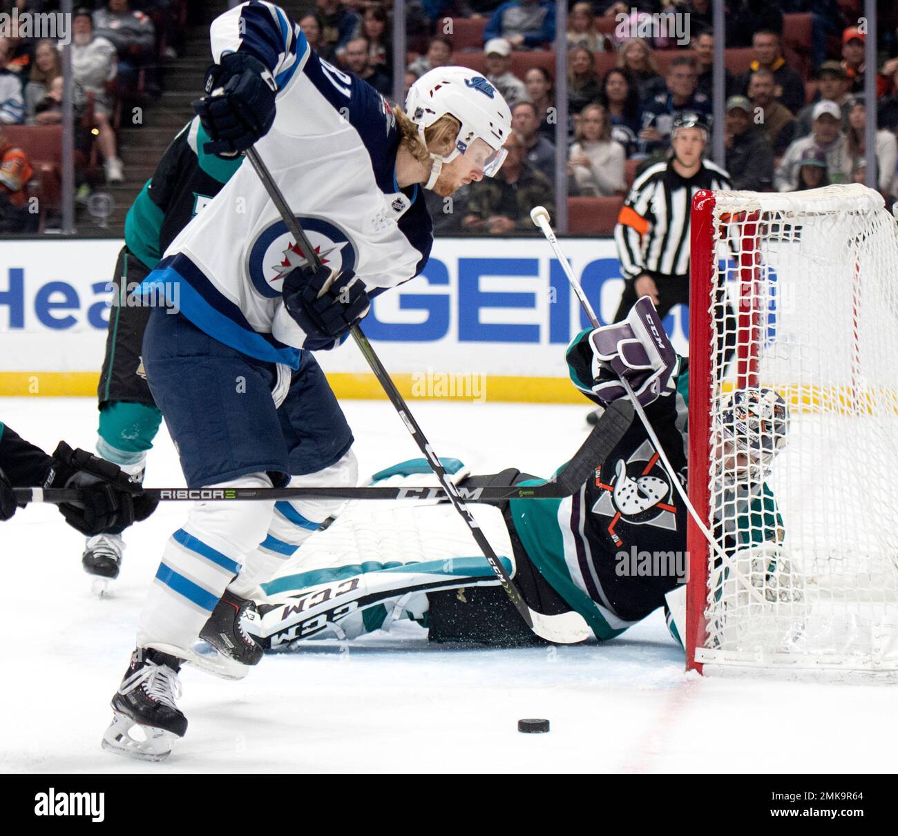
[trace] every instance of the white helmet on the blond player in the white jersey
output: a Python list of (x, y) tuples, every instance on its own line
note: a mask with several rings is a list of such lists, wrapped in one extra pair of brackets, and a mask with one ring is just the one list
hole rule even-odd
[(432, 188), (444, 162), (469, 151), (480, 139), (490, 152), (479, 160), (483, 173), (494, 177), (506, 158), (505, 145), (511, 133), (511, 110), (502, 93), (483, 74), (463, 66), (441, 66), (422, 75), (409, 88), (405, 112), (418, 126), (421, 142), (424, 132), (437, 119), (450, 114), (462, 123), (455, 147), (445, 156), (431, 153), (434, 161), (425, 188)]

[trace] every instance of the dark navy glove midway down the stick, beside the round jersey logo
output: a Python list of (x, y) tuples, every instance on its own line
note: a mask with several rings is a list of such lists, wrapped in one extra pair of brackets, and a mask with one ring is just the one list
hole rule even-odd
[(308, 335), (304, 348), (327, 351), (339, 338), (365, 317), (371, 300), (365, 285), (354, 282), (355, 273), (348, 270), (330, 281), (330, 267), (321, 265), (294, 267), (284, 278), (284, 305), (287, 313)]

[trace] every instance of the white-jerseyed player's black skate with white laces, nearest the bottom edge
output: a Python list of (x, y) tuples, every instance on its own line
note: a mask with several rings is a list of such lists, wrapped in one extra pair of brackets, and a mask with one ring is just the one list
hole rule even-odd
[[(136, 649), (112, 697), (112, 723), (103, 748), (141, 761), (163, 761), (172, 742), (187, 731), (187, 718), (175, 705), (180, 697), (180, 659), (160, 650)], [(137, 734), (132, 732), (137, 729)]]

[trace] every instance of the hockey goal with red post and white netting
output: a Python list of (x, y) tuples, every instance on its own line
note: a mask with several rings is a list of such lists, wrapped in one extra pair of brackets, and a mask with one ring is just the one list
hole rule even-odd
[[(690, 312), (689, 492), (720, 551), (690, 519), (687, 667), (898, 682), (898, 233), (883, 198), (699, 192)], [(762, 478), (721, 453), (737, 387), (788, 405)]]

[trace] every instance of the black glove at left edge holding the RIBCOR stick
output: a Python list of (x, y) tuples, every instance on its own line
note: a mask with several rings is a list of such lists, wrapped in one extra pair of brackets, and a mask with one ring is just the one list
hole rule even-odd
[(131, 482), (118, 466), (60, 441), (44, 487), (80, 488), (83, 499), (63, 502), (59, 512), (85, 536), (121, 534), (131, 523), (146, 519), (159, 504)]

